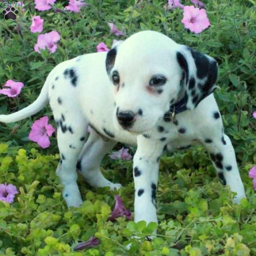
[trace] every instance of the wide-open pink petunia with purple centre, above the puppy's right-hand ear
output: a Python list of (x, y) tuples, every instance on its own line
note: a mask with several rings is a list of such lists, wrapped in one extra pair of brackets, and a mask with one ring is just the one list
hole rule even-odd
[(186, 29), (196, 34), (202, 32), (210, 26), (205, 9), (195, 8), (194, 6), (185, 6), (183, 12), (183, 20)]

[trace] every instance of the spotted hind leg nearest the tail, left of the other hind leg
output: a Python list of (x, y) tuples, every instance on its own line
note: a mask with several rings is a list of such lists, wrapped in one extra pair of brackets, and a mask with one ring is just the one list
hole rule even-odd
[(58, 126), (57, 140), (61, 156), (56, 174), (64, 185), (62, 196), (68, 207), (79, 207), (82, 199), (76, 183), (78, 176), (76, 163), (88, 137), (86, 131), (88, 123), (77, 112), (69, 112), (66, 116), (62, 113), (58, 118), (55, 116), (55, 120)]

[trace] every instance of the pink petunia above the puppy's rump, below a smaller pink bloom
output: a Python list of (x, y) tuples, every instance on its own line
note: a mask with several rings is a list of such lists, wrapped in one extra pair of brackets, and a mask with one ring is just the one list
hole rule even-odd
[(39, 48), (45, 49), (45, 47), (47, 47), (49, 51), (53, 53), (57, 49), (57, 46), (54, 43), (58, 42), (60, 38), (60, 35), (56, 31), (38, 35), (38, 41), (37, 44), (35, 44), (34, 49), (36, 52), (39, 52)]

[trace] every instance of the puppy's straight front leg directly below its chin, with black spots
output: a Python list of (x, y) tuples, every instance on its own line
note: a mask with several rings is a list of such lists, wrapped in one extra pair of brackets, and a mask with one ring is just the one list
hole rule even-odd
[(157, 222), (155, 206), (159, 157), (163, 151), (163, 142), (137, 137), (137, 151), (134, 155), (134, 221)]

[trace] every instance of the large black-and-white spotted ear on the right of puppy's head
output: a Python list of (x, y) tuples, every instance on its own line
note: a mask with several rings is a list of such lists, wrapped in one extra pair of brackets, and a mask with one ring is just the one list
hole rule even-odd
[(193, 110), (202, 99), (216, 89), (218, 63), (208, 55), (184, 46), (176, 56), (185, 73), (186, 108)]

